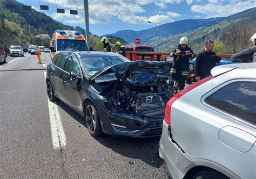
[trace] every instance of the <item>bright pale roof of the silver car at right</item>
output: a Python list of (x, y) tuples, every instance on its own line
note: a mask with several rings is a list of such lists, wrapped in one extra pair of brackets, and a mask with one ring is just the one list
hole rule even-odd
[(234, 64), (228, 64), (228, 65), (221, 65), (214, 67), (211, 70), (211, 74), (213, 77), (227, 73), (231, 70), (245, 70), (245, 69), (256, 69), (256, 63), (234, 63)]

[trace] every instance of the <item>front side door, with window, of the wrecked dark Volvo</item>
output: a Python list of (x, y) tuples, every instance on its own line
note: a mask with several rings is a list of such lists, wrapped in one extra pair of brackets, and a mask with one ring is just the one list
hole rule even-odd
[[(76, 74), (79, 78), (71, 80), (70, 72)], [(65, 102), (79, 112), (83, 112), (82, 71), (75, 56), (69, 55), (66, 61), (65, 72), (63, 73), (63, 80), (65, 81), (63, 85), (63, 98)]]

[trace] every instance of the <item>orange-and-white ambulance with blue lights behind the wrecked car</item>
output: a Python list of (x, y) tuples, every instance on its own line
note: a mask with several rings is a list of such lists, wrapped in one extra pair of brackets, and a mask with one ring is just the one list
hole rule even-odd
[(56, 30), (50, 42), (51, 58), (63, 51), (89, 51), (81, 31)]

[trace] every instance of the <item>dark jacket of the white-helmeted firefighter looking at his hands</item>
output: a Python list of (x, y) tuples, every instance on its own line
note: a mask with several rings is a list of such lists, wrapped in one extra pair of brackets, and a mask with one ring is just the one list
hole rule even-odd
[[(174, 55), (177, 51), (186, 52), (190, 51), (191, 55)], [(194, 58), (194, 52), (192, 49), (188, 46), (186, 48), (181, 48), (179, 45), (178, 48), (174, 49), (172, 51), (171, 56), (173, 57), (173, 64), (171, 69), (172, 75), (181, 75), (181, 76), (188, 76), (189, 75), (189, 65), (190, 65), (190, 59)]]

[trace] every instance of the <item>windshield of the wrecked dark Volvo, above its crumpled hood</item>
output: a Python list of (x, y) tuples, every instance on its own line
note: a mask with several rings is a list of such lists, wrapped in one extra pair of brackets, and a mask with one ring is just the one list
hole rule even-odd
[(89, 58), (82, 58), (86, 73), (90, 77), (98, 73), (98, 71), (103, 70), (104, 68), (128, 61), (128, 59), (122, 56), (95, 56)]

